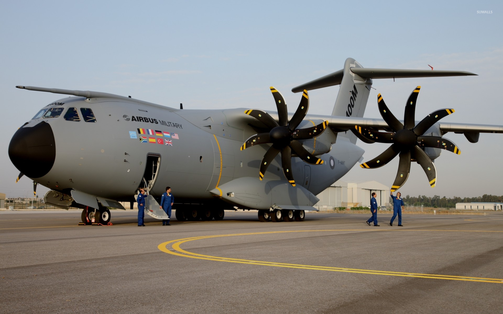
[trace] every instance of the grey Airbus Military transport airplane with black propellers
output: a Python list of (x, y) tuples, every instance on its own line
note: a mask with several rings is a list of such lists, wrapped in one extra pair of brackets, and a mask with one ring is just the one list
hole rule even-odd
[[(376, 168), (399, 155), (391, 190), (402, 186), (410, 163), (419, 163), (432, 187), (433, 160), (442, 150), (459, 154), (443, 138), (463, 133), (476, 143), (480, 133), (503, 133), (503, 126), (441, 123), (454, 113), (441, 109), (415, 121), (417, 86), (406, 102), (403, 121), (389, 111), (381, 94), (382, 119), (363, 118), (373, 79), (476, 75), (465, 71), (364, 68), (348, 58), (344, 68), (292, 89), (301, 92), (289, 114), (281, 92), (270, 87), (277, 112), (238, 108), (187, 110), (105, 92), (16, 86), (71, 95), (44, 106), (14, 134), (12, 163), (50, 188), (47, 204), (82, 208), (84, 224), (108, 224), (111, 208), (133, 208), (147, 190), (145, 213), (167, 219), (157, 200), (171, 186), (179, 221), (222, 220), (224, 210), (258, 210), (261, 222), (303, 221), (316, 195), (363, 160), (366, 143), (391, 146), (361, 163)], [(308, 115), (308, 90), (341, 85), (330, 115)], [(181, 106), (182, 107), (182, 106)], [(349, 132), (348, 132), (349, 131)]]

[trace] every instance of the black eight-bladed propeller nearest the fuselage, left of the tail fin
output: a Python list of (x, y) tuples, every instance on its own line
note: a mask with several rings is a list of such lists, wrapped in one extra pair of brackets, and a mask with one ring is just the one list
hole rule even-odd
[(269, 129), (269, 133), (259, 133), (251, 136), (241, 146), (241, 150), (258, 144), (272, 143), (273, 145), (266, 152), (260, 164), (259, 179), (262, 180), (262, 178), (264, 178), (264, 174), (266, 173), (269, 164), (279, 153), (281, 153), (283, 173), (285, 174), (288, 182), (295, 186), (295, 180), (293, 179), (291, 171), (292, 153), (312, 165), (322, 164), (323, 160), (309, 153), (299, 141), (309, 140), (321, 135), (328, 126), (328, 121), (324, 121), (323, 123), (311, 128), (297, 129), (309, 109), (309, 96), (307, 94), (307, 90), (304, 89), (299, 107), (290, 121), (288, 121), (287, 106), (283, 95), (273, 86), (271, 86), (271, 92), (273, 93), (274, 100), (276, 101), (279, 123), (263, 111), (255, 109), (246, 110), (244, 113), (265, 124)]

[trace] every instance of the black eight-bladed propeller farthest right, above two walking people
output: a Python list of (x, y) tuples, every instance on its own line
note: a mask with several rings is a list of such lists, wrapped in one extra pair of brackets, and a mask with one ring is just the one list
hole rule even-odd
[(410, 161), (416, 161), (423, 167), (430, 186), (435, 187), (437, 183), (437, 170), (433, 161), (423, 150), (423, 147), (434, 147), (461, 154), (460, 150), (450, 140), (440, 136), (424, 136), (440, 119), (454, 113), (454, 109), (437, 110), (415, 125), (415, 102), (421, 86), (417, 86), (409, 95), (405, 105), (403, 124), (398, 121), (386, 106), (381, 94), (377, 95), (377, 103), (382, 118), (393, 132), (378, 132), (368, 128), (355, 126), (355, 131), (364, 138), (378, 142), (391, 143), (391, 146), (376, 158), (364, 162), (362, 168), (379, 168), (390, 162), (396, 155), (399, 155), (398, 172), (395, 181), (391, 186), (391, 192), (399, 189), (407, 180), (410, 172)]

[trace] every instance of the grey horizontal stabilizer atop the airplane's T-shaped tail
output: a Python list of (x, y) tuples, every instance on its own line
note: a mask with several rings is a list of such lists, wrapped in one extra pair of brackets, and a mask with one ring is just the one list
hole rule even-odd
[[(440, 71), (440, 70), (408, 70), (408, 69), (373, 69), (351, 67), (351, 72), (362, 78), (407, 78), (407, 77), (439, 77), (439, 76), (466, 76), (477, 75), (466, 71)], [(293, 92), (312, 90), (341, 84), (344, 70), (339, 70), (305, 84), (292, 88)]]

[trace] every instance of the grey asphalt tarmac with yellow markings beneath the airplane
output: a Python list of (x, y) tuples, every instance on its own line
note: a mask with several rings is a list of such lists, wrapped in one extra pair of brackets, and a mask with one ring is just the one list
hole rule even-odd
[[(501, 313), (503, 213), (161, 226), (0, 212), (3, 313)], [(174, 216), (174, 215), (173, 215)]]

